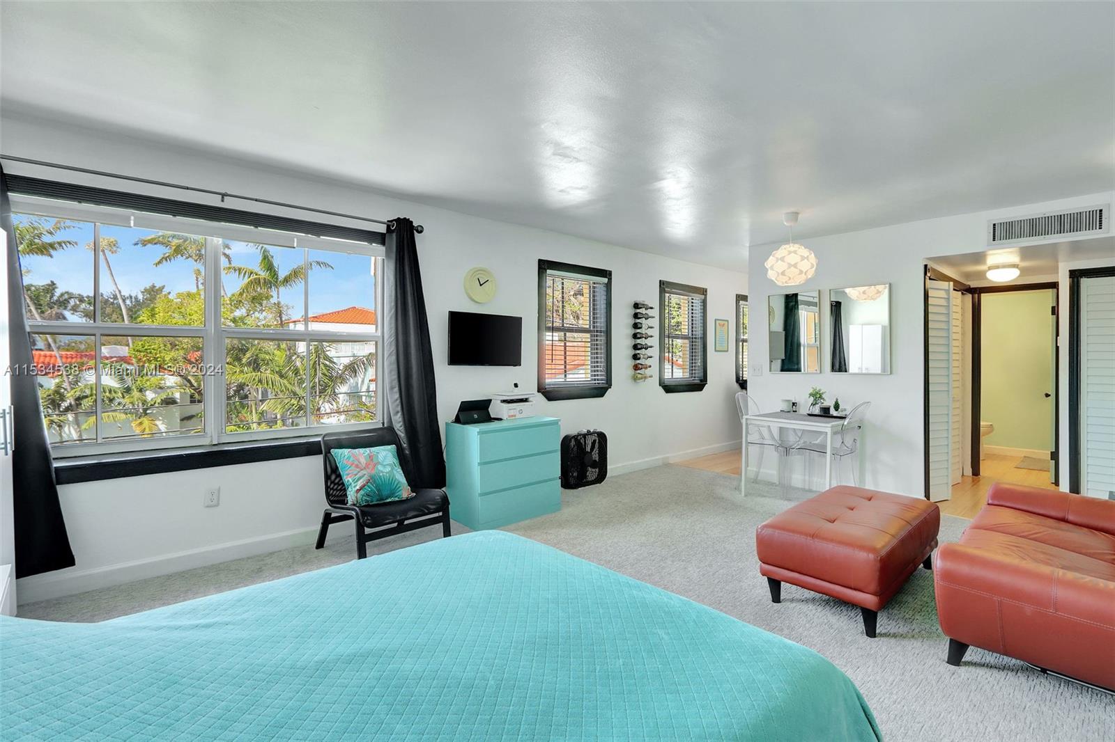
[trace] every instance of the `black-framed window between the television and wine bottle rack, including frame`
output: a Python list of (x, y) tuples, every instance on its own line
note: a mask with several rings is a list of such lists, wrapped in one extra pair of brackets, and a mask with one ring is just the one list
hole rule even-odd
[(539, 261), (539, 392), (603, 397), (612, 385), (612, 272)]

